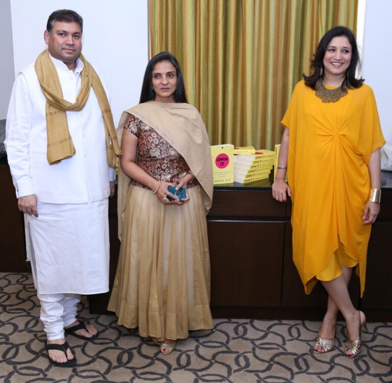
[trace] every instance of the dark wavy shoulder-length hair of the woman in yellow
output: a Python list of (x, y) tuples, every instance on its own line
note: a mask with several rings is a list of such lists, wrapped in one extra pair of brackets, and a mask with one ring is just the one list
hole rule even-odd
[(315, 89), (315, 83), (317, 79), (320, 77), (320, 69), (323, 68), (324, 71), (324, 56), (327, 51), (328, 45), (334, 37), (337, 36), (346, 36), (351, 44), (351, 62), (349, 68), (347, 69), (348, 76), (346, 76), (346, 83), (350, 88), (359, 88), (362, 84), (364, 79), (356, 79), (355, 78), (355, 71), (357, 67), (360, 68), (361, 63), (359, 59), (359, 53), (357, 48), (357, 43), (355, 41), (355, 37), (353, 33), (346, 27), (337, 26), (330, 29), (320, 40), (318, 43), (316, 54), (312, 60), (311, 68), (313, 68), (313, 75), (305, 76), (303, 74), (303, 78), (305, 80), (305, 84), (310, 86), (311, 88)]

